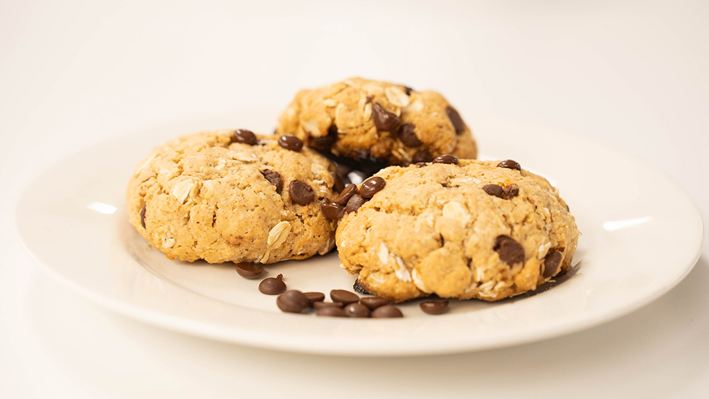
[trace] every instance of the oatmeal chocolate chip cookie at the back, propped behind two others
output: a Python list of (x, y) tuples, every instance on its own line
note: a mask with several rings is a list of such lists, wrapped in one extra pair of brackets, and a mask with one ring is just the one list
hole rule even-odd
[(298, 136), (338, 163), (372, 173), (446, 153), (477, 155), (470, 129), (442, 95), (357, 77), (298, 92), (277, 134)]

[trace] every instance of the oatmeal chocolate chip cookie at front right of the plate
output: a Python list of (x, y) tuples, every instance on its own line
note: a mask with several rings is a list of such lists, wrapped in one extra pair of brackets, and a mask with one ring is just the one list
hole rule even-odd
[(341, 266), (365, 290), (493, 301), (569, 269), (579, 231), (547, 180), (511, 160), (437, 162), (381, 170), (374, 194), (359, 187), (371, 199), (342, 215)]

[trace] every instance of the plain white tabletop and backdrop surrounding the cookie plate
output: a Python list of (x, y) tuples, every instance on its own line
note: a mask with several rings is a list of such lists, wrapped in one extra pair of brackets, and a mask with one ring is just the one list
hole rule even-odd
[(285, 106), (301, 87), (354, 75), (638, 156), (709, 220), (707, 2), (256, 3), (0, 2), (0, 398), (709, 397), (706, 239), (683, 282), (613, 322), (401, 359), (189, 337), (114, 315), (38, 270), (14, 209), (52, 163), (141, 126)]

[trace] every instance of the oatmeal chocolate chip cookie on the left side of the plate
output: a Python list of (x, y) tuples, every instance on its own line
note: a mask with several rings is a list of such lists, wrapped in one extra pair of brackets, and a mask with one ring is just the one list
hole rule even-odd
[[(335, 166), (298, 139), (214, 131), (159, 146), (130, 178), (130, 223), (170, 259), (274, 263), (333, 248)], [(302, 147), (302, 143), (301, 143)]]

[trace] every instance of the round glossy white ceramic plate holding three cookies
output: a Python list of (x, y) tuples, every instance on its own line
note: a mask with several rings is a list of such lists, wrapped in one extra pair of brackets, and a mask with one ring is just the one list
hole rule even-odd
[[(512, 158), (549, 177), (583, 236), (574, 268), (551, 289), (487, 303), (454, 301), (430, 316), (418, 302), (402, 319), (340, 319), (280, 312), (230, 265), (169, 261), (125, 216), (125, 187), (152, 147), (217, 128), (272, 131), (277, 111), (253, 111), (147, 129), (73, 155), (23, 194), (18, 231), (52, 275), (101, 305), (167, 329), (271, 349), (403, 355), (472, 351), (579, 331), (666, 293), (696, 263), (703, 231), (696, 207), (664, 174), (563, 133), (467, 115), (488, 158)], [(352, 289), (337, 253), (268, 266), (289, 288)]]

